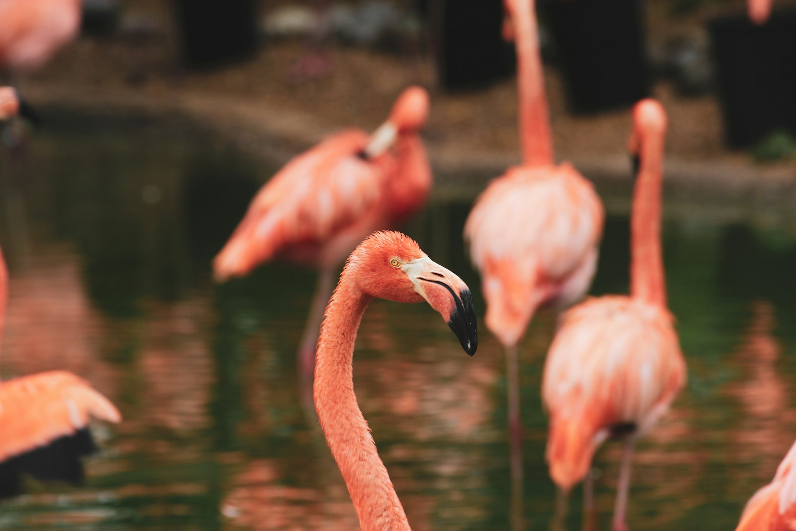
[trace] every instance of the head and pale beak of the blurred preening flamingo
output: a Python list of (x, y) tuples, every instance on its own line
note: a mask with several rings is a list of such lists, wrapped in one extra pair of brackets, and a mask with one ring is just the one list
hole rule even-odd
[(378, 157), (395, 145), (398, 137), (414, 134), (423, 128), (428, 118), (428, 92), (425, 88), (412, 86), (400, 93), (392, 105), (390, 117), (373, 131), (365, 148), (369, 158)]

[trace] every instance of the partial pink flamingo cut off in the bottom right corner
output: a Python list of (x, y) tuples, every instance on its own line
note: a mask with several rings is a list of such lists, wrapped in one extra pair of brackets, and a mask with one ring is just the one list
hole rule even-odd
[(796, 443), (774, 480), (758, 490), (743, 510), (736, 531), (790, 531), (796, 524)]

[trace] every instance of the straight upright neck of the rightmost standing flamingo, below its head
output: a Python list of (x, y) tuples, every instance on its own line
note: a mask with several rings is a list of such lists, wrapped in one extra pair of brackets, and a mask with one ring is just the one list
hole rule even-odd
[(630, 295), (666, 306), (661, 256), (661, 185), (663, 134), (644, 135), (630, 214)]

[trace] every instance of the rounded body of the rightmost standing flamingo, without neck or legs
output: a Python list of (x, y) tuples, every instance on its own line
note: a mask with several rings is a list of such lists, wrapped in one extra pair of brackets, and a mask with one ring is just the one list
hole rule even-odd
[(643, 435), (669, 408), (685, 385), (685, 361), (669, 312), (638, 299), (588, 299), (560, 324), (542, 399), (551, 417), (550, 474), (569, 490), (612, 431)]

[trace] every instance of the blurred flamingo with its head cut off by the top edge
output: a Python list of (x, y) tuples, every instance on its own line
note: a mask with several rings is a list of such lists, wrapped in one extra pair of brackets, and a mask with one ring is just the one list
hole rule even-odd
[(552, 138), (533, 0), (505, 0), (516, 37), (522, 165), (509, 168), (478, 197), (464, 236), (482, 272), (486, 327), (506, 349), (512, 478), (522, 478), (517, 345), (534, 312), (563, 308), (591, 284), (603, 233), (603, 205), (591, 182), (553, 162)]

